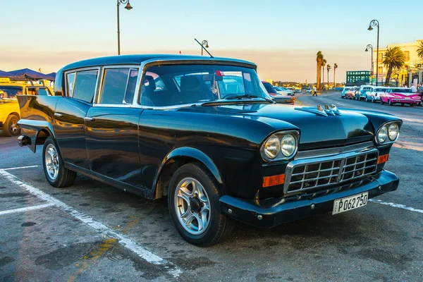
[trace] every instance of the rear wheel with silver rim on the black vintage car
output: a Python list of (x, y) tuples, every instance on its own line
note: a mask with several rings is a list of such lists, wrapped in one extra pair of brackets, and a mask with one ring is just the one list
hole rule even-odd
[(51, 186), (62, 188), (73, 184), (76, 173), (63, 166), (63, 160), (51, 136), (44, 142), (42, 156), (44, 174)]

